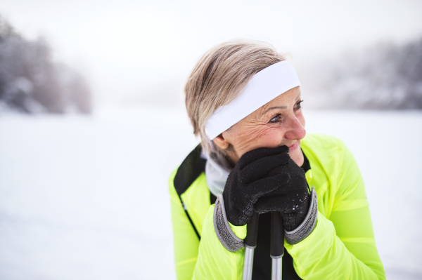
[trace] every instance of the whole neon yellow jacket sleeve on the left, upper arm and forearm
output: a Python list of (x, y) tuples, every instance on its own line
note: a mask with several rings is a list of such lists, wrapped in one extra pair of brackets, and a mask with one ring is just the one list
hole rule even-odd
[[(222, 246), (214, 229), (214, 205), (208, 209), (198, 240), (174, 189), (174, 175), (175, 172), (170, 176), (169, 185), (177, 280), (240, 280), (244, 249), (232, 253)], [(239, 238), (245, 238), (246, 227), (230, 226)]]

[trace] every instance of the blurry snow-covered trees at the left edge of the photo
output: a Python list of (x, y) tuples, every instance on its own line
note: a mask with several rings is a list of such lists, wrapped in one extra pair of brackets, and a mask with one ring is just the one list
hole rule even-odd
[(0, 113), (8, 110), (89, 114), (92, 101), (84, 77), (53, 62), (44, 39), (26, 40), (0, 16)]

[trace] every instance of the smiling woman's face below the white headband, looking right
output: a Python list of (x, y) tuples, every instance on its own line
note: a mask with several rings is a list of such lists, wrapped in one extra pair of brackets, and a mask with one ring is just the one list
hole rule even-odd
[(245, 152), (260, 147), (289, 147), (288, 154), (303, 164), (300, 140), (305, 137), (305, 118), (300, 107), (300, 88), (292, 88), (249, 114), (213, 141), (226, 149), (232, 164)]

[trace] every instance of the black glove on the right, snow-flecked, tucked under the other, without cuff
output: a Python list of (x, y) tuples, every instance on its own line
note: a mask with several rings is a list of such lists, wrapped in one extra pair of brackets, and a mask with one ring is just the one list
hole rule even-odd
[(255, 211), (258, 213), (281, 212), (284, 227), (287, 231), (292, 231), (305, 220), (311, 201), (305, 171), (289, 156), (287, 164), (277, 166), (268, 175), (288, 175), (288, 179), (282, 187), (258, 199), (254, 206)]

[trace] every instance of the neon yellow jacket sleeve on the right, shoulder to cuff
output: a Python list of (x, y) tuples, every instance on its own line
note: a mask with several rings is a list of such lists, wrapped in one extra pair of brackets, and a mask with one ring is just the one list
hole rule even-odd
[(295, 245), (285, 242), (302, 279), (385, 279), (376, 249), (364, 182), (340, 141), (333, 211), (318, 213), (314, 231)]

